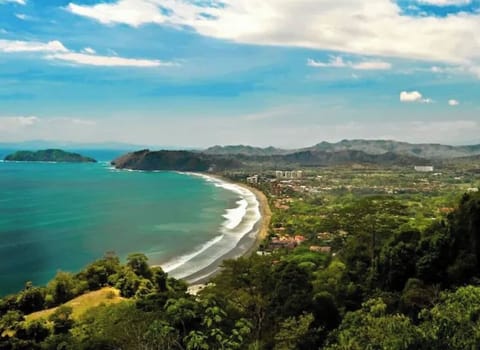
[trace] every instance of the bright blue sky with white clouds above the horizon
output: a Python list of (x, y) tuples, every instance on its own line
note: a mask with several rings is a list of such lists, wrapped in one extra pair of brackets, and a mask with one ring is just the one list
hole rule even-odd
[(0, 0), (0, 142), (480, 143), (480, 0)]

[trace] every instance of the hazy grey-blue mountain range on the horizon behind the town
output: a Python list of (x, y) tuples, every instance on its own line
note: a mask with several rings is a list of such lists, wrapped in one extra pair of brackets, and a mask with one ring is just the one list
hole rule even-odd
[(274, 147), (215, 146), (204, 152), (217, 155), (273, 156), (298, 152), (341, 152), (362, 151), (366, 154), (381, 155), (395, 153), (425, 159), (452, 159), (480, 155), (480, 144), (471, 146), (449, 146), (442, 144), (412, 144), (392, 140), (343, 140), (336, 143), (321, 142), (302, 149), (285, 150)]

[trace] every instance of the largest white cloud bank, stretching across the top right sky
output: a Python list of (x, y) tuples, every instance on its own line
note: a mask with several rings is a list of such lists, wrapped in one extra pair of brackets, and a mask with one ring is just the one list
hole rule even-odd
[(406, 16), (391, 0), (369, 0), (368, 6), (358, 0), (117, 0), (73, 2), (67, 10), (104, 24), (185, 26), (240, 43), (480, 64), (479, 13)]

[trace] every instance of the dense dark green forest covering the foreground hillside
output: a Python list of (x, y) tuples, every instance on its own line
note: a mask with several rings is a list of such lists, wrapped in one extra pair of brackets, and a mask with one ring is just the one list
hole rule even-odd
[[(273, 228), (295, 225), (298, 210), (315, 216), (322, 201), (308, 203), (274, 213)], [(334, 254), (300, 245), (225, 261), (198, 295), (143, 254), (108, 253), (3, 297), (0, 349), (479, 348), (480, 194), (430, 225), (408, 224), (407, 209), (388, 196), (351, 201), (322, 216), (348, 232)], [(65, 304), (105, 287), (121, 300), (81, 315)]]

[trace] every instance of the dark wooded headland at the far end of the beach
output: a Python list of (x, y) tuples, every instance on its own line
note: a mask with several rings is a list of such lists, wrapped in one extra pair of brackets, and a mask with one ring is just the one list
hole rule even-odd
[(118, 169), (176, 170), (176, 171), (222, 171), (240, 168), (234, 158), (224, 158), (189, 151), (156, 151), (148, 149), (125, 154), (112, 164)]

